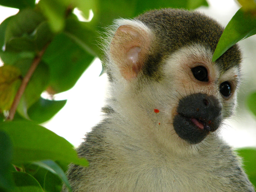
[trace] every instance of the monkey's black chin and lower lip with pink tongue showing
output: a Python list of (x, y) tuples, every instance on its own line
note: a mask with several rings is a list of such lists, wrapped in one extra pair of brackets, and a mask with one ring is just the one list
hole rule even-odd
[(188, 143), (200, 143), (210, 133), (207, 123), (196, 118), (189, 118), (177, 114), (173, 119), (173, 128), (181, 139)]

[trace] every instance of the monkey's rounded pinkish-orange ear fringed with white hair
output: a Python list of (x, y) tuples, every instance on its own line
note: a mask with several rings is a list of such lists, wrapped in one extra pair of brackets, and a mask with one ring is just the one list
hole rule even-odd
[(152, 40), (151, 32), (144, 24), (134, 23), (137, 22), (118, 27), (110, 44), (110, 58), (126, 80), (140, 73)]

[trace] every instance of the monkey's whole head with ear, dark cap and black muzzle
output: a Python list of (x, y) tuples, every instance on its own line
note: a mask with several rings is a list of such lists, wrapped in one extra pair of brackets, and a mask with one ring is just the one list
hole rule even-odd
[(165, 144), (216, 135), (234, 111), (240, 78), (237, 45), (212, 62), (223, 28), (174, 9), (119, 19), (113, 28), (106, 48), (110, 107)]

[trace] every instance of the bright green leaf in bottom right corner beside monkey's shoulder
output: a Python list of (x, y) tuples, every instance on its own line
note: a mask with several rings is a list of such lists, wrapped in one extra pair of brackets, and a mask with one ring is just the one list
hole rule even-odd
[(250, 181), (256, 186), (256, 148), (242, 148), (236, 151), (243, 158), (244, 169)]

